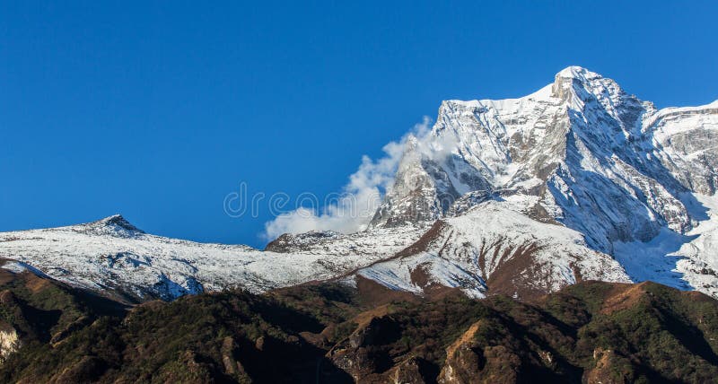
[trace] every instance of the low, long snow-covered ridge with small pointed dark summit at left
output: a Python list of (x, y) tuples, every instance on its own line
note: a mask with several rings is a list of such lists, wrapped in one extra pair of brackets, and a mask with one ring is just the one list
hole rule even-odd
[[(132, 301), (242, 287), (253, 292), (344, 275), (416, 240), (416, 231), (354, 235), (371, 254), (343, 249), (276, 253), (146, 234), (121, 216), (47, 230), (0, 233), (0, 257), (57, 280)], [(6, 265), (15, 266), (15, 264)]]

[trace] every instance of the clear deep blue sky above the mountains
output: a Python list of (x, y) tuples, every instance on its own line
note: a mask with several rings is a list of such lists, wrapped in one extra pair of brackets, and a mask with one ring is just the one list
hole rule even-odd
[(267, 212), (223, 212), (239, 182), (338, 191), (441, 100), (567, 65), (659, 107), (718, 98), (714, 1), (201, 3), (0, 3), (0, 231), (120, 213), (261, 246)]

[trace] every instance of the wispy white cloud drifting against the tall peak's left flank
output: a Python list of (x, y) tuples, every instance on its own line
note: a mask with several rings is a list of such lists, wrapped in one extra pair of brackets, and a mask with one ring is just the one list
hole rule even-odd
[(363, 156), (359, 169), (349, 176), (343, 194), (336, 201), (324, 206), (321, 212), (300, 207), (287, 214), (280, 214), (265, 223), (263, 237), (272, 240), (287, 232), (363, 231), (381, 205), (384, 193), (391, 188), (408, 140), (416, 144), (419, 153), (430, 158), (436, 156), (436, 153), (446, 151), (446, 148), (451, 148), (451, 143), (443, 143), (445, 140), (428, 140), (431, 123), (431, 118), (424, 117), (411, 133), (404, 135), (398, 142), (384, 145), (382, 150), (385, 156), (377, 161)]

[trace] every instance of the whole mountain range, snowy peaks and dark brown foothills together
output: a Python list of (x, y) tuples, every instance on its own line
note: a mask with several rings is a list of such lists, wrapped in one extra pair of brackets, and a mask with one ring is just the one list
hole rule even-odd
[(352, 233), (0, 232), (0, 381), (715, 380), (718, 100), (571, 66), (401, 145)]

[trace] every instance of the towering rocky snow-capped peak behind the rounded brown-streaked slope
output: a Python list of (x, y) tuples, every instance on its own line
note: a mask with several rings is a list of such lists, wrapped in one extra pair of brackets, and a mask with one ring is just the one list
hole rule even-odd
[[(509, 209), (581, 233), (635, 281), (718, 292), (718, 101), (657, 110), (572, 66), (520, 99), (444, 101), (429, 134), (407, 143), (373, 228), (467, 215), (486, 224)], [(491, 205), (501, 209), (486, 211)], [(516, 237), (509, 228), (480, 243)], [(536, 233), (553, 236), (548, 227)], [(610, 271), (591, 278), (621, 278)], [(548, 287), (549, 275), (533, 280)]]

